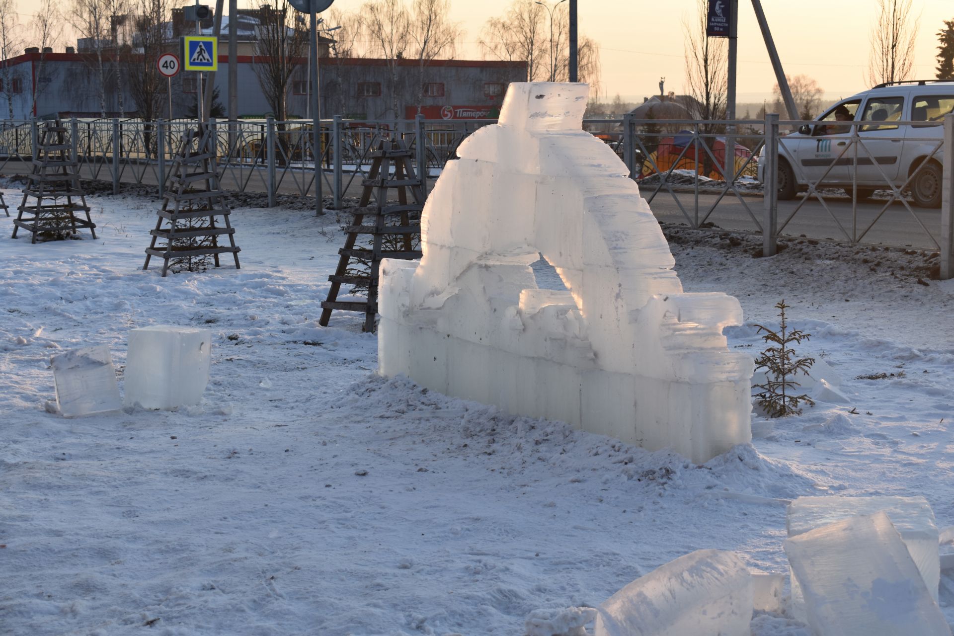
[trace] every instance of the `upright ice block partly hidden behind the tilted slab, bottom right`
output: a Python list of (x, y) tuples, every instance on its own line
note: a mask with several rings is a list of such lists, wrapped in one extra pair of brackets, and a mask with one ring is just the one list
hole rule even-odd
[[(923, 497), (799, 497), (790, 503), (785, 516), (789, 537), (814, 530), (856, 515), (872, 515), (880, 510), (901, 533), (914, 564), (918, 566), (931, 598), (938, 600), (941, 564), (938, 557), (938, 526), (934, 511)], [(798, 578), (792, 576), (792, 613), (804, 619), (804, 605)]]

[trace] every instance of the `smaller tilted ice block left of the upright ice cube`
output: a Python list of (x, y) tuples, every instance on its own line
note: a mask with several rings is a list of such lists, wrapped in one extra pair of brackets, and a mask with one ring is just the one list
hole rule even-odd
[(56, 406), (68, 418), (122, 408), (110, 348), (72, 349), (50, 359)]

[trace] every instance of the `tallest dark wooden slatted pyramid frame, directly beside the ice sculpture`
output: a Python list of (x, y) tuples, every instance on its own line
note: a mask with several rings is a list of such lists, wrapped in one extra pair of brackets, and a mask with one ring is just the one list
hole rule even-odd
[[(381, 148), (370, 154), (373, 159), (368, 177), (362, 182), (364, 190), (361, 200), (357, 210), (348, 213), (353, 215), (353, 218), (351, 224), (344, 228), (347, 236), (344, 239), (344, 247), (338, 251), (341, 255), (338, 269), (328, 277), (331, 281), (331, 289), (328, 290), (327, 300), (321, 303), (322, 311), (321, 319), (319, 319), (321, 326), (328, 326), (331, 312), (338, 309), (364, 312), (363, 330), (374, 331), (375, 316), (378, 313), (378, 274), (382, 258), (413, 260), (422, 256), (421, 250), (413, 249), (413, 243), (414, 236), (420, 239), (421, 234), (421, 213), (424, 211), (425, 202), (424, 184), (411, 164), (412, 155), (413, 152), (405, 148), (398, 139), (383, 141)], [(393, 175), (390, 174), (392, 165), (394, 166)], [(388, 203), (388, 190), (398, 191), (397, 205)], [(407, 202), (407, 190), (410, 190), (414, 198), (413, 203)], [(367, 209), (372, 195), (375, 198), (375, 206)], [(370, 219), (369, 223), (364, 223), (365, 216)], [(396, 219), (398, 224), (386, 223), (389, 219)], [(355, 247), (359, 236), (362, 235), (372, 236), (371, 249)], [(398, 249), (385, 250), (385, 236), (396, 236), (394, 242), (399, 245), (389, 247)], [(367, 274), (349, 274), (348, 268), (353, 261), (359, 264), (367, 263)], [(338, 300), (342, 284), (366, 287), (367, 297), (363, 300)]]

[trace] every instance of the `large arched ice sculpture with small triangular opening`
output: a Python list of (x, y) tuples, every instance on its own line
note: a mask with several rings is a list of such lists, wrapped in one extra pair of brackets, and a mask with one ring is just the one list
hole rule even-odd
[[(649, 205), (583, 132), (585, 84), (510, 84), (447, 164), (424, 257), (385, 260), (379, 372), (705, 462), (750, 441), (753, 361), (724, 294), (684, 294)], [(542, 254), (567, 290), (539, 289)]]

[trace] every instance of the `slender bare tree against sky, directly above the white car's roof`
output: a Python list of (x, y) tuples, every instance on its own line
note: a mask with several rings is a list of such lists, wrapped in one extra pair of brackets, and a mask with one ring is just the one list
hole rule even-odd
[(878, 20), (871, 31), (868, 58), (868, 81), (872, 86), (911, 77), (919, 22), (911, 15), (911, 0), (878, 0)]

